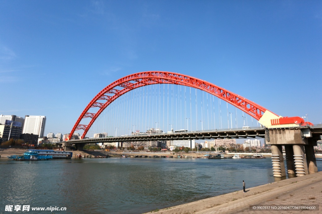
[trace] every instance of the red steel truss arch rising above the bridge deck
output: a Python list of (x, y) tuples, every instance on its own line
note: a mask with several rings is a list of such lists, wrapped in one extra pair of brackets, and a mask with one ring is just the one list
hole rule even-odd
[[(125, 76), (105, 87), (101, 90), (86, 106), (84, 111), (81, 113), (81, 116), (76, 121), (71, 133), (69, 135), (69, 139), (71, 139), (73, 133), (76, 130), (84, 130), (81, 139), (86, 136), (86, 133), (90, 129), (91, 125), (94, 123), (96, 118), (103, 112), (103, 110), (109, 106), (114, 100), (116, 100), (121, 95), (127, 93), (130, 90), (152, 85), (152, 84), (176, 84), (176, 85), (183, 85), (189, 86), (196, 89), (204, 90), (209, 94), (212, 94), (233, 106), (241, 109), (245, 113), (249, 114), (250, 116), (254, 117), (255, 119), (259, 120), (260, 117), (265, 113), (267, 110), (260, 105), (243, 98), (231, 91), (225, 90), (221, 87), (218, 87), (210, 82), (200, 80), (188, 75), (179, 74), (179, 73), (172, 73), (172, 72), (164, 72), (164, 71), (147, 71), (141, 73), (134, 73), (128, 76)], [(116, 89), (116, 88), (120, 88)], [(98, 100), (104, 102), (98, 102)], [(90, 112), (91, 108), (99, 107), (99, 110), (96, 113)], [(80, 124), (83, 118), (90, 117), (91, 120), (89, 124)]]

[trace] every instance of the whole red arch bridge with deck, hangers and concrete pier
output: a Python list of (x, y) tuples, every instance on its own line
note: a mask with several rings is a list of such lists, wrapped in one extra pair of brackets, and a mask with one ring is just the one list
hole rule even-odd
[[(138, 89), (144, 86), (156, 85), (156, 84), (167, 84), (167, 85), (190, 87), (190, 88), (194, 88), (196, 90), (201, 90), (205, 92), (207, 99), (208, 99), (208, 94), (210, 94), (210, 95), (213, 95), (214, 97), (217, 97), (219, 102), (221, 100), (225, 101), (227, 103), (228, 127), (229, 127), (228, 104), (230, 104), (232, 107), (235, 107), (235, 109), (239, 109), (242, 111), (244, 125), (245, 125), (245, 117), (244, 117), (244, 113), (245, 113), (246, 116), (249, 115), (251, 116), (251, 118), (254, 118), (256, 121), (258, 121), (258, 123), (260, 123), (260, 127), (252, 128), (249, 126), (243, 126), (242, 128), (237, 128), (237, 125), (236, 125), (236, 128), (232, 128), (233, 113), (229, 113), (230, 119), (231, 119), (231, 127), (230, 129), (227, 129), (227, 130), (224, 130), (221, 125), (219, 130), (213, 129), (210, 131), (209, 130), (204, 131), (202, 128), (201, 131), (188, 132), (188, 127), (189, 127), (188, 121), (189, 119), (191, 121), (192, 118), (186, 118), (187, 130), (185, 129), (180, 130), (180, 132), (173, 132), (172, 130), (172, 132), (166, 133), (166, 134), (142, 133), (137, 136), (123, 135), (119, 137), (116, 136), (116, 137), (106, 137), (106, 138), (99, 138), (99, 139), (86, 139), (85, 136), (89, 132), (94, 122), (99, 118), (102, 112), (107, 107), (112, 105), (113, 102), (116, 102), (118, 98), (120, 98), (122, 95), (129, 94), (130, 91), (133, 91), (135, 89)], [(180, 91), (181, 91), (181, 88), (180, 88)], [(196, 96), (197, 96), (197, 93), (196, 93)], [(160, 97), (161, 97), (161, 93), (159, 91), (159, 94), (158, 94), (159, 100), (160, 100)], [(161, 104), (161, 101), (159, 101), (159, 104)], [(180, 106), (180, 103), (179, 103), (179, 106)], [(208, 103), (207, 103), (207, 109), (208, 109)], [(219, 106), (219, 109), (220, 109), (219, 110), (220, 123), (222, 124), (221, 106)], [(191, 111), (192, 111), (192, 107), (191, 107), (191, 98), (190, 98), (190, 115), (192, 116)], [(142, 113), (142, 116), (143, 114), (144, 113)], [(203, 112), (201, 114), (203, 114)], [(153, 115), (153, 111), (152, 111), (152, 115)], [(156, 112), (154, 115), (156, 115)], [(236, 112), (236, 115), (237, 115), (237, 112)], [(182, 117), (181, 113), (180, 113), (180, 116)], [(204, 117), (202, 116), (202, 118)], [(195, 120), (196, 125), (197, 125), (197, 120), (198, 119)], [(200, 120), (200, 122), (201, 122), (201, 126), (203, 126), (203, 122), (204, 122), (203, 119)], [(155, 122), (155, 123), (157, 126), (159, 122)], [(143, 124), (143, 119), (142, 119), (142, 124)], [(135, 125), (132, 124), (132, 126), (133, 126), (133, 133), (135, 133), (134, 131)], [(74, 132), (77, 130), (83, 130), (81, 140), (70, 140)], [(313, 124), (309, 123), (308, 121), (305, 122), (305, 120), (301, 117), (278, 116), (277, 114), (272, 113), (265, 107), (262, 107), (240, 95), (237, 95), (229, 90), (225, 90), (208, 81), (200, 80), (200, 79), (197, 79), (188, 75), (184, 75), (184, 74), (179, 74), (179, 73), (163, 72), (163, 71), (147, 71), (147, 72), (135, 73), (135, 74), (125, 76), (117, 81), (112, 82), (103, 90), (101, 90), (85, 107), (85, 109), (79, 116), (78, 120), (76, 121), (75, 125), (73, 126), (71, 133), (69, 134), (69, 137), (68, 139), (66, 139), (66, 142), (64, 142), (64, 144), (68, 146), (71, 143), (84, 145), (86, 143), (99, 142), (99, 141), (112, 142), (112, 141), (153, 141), (153, 140), (265, 137), (266, 143), (271, 144), (274, 176), (282, 177), (286, 175), (284, 161), (283, 161), (283, 154), (282, 154), (282, 145), (285, 146), (286, 156), (288, 158), (289, 174), (296, 174), (300, 176), (300, 175), (305, 175), (305, 174), (313, 173), (317, 171), (313, 146), (316, 145), (316, 141), (318, 140), (318, 136), (320, 136), (320, 134), (321, 134), (320, 127), (315, 127)]]

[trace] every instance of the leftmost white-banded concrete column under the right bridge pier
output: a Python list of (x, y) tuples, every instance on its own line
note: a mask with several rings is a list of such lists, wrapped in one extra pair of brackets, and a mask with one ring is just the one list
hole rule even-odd
[(272, 151), (273, 176), (274, 177), (286, 176), (283, 153), (282, 153), (282, 146), (281, 145), (271, 145), (270, 149)]

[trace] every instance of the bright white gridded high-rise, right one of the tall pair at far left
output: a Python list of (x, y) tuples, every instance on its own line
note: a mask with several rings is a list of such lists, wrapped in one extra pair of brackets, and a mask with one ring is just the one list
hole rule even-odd
[(43, 137), (45, 131), (46, 116), (29, 116), (24, 118), (24, 128), (22, 133), (36, 134), (39, 137)]

